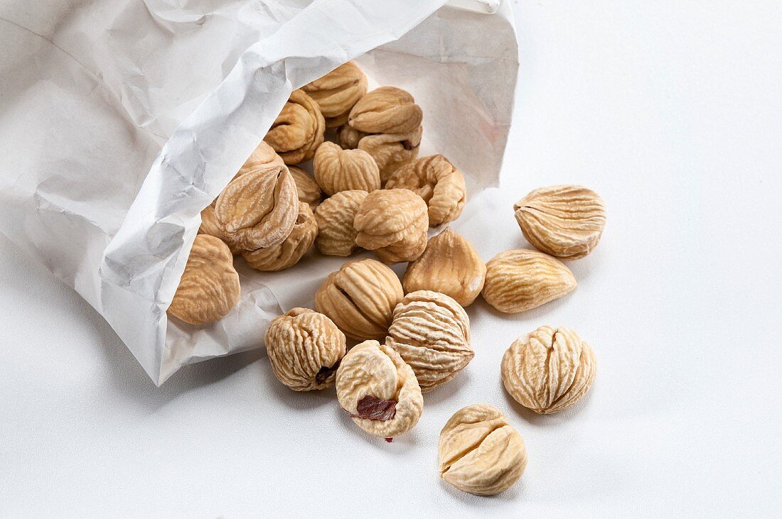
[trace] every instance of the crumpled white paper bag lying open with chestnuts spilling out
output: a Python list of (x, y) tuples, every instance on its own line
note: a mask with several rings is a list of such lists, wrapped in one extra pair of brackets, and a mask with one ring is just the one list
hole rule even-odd
[[(95, 307), (149, 377), (263, 347), (347, 258), (237, 258), (211, 325), (167, 318), (200, 212), (292, 90), (356, 59), (424, 111), (468, 197), (497, 184), (518, 71), (507, 0), (10, 0), (0, 6), (0, 231)], [(468, 202), (469, 204), (469, 202)]]

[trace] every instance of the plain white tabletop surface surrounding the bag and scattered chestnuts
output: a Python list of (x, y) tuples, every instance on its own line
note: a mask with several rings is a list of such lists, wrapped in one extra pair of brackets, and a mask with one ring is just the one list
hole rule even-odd
[[(525, 245), (516, 199), (592, 187), (608, 224), (570, 263), (574, 293), (523, 315), (469, 307), (475, 359), (387, 444), (333, 390), (290, 392), (260, 350), (156, 388), (88, 304), (0, 236), (0, 515), (782, 514), (782, 4), (515, 9), (501, 189), (456, 227), (489, 259)], [(504, 393), (499, 364), (543, 324), (576, 329), (598, 371), (582, 403), (539, 417)], [(493, 498), (436, 469), (439, 429), (479, 402), (529, 453)]]

